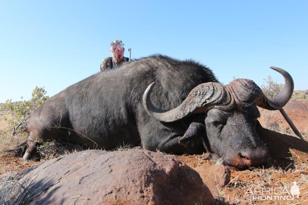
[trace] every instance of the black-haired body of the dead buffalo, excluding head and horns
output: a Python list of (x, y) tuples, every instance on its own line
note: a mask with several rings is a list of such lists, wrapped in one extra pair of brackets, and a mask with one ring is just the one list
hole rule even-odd
[[(211, 69), (196, 61), (163, 55), (144, 57), (96, 73), (48, 99), (30, 118), (29, 140), (62, 139), (104, 149), (141, 142), (152, 151), (190, 152), (178, 141), (190, 123), (204, 124), (202, 114), (172, 123), (149, 116), (142, 96), (154, 81), (151, 99), (163, 109), (180, 105), (201, 83), (218, 82)], [(196, 149), (201, 147), (203, 151), (202, 145)]]

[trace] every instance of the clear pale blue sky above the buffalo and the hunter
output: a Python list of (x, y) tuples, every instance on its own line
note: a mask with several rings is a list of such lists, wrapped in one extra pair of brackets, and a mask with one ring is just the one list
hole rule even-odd
[(0, 102), (53, 96), (99, 69), (113, 39), (132, 58), (193, 58), (228, 84), (259, 86), (269, 66), (308, 89), (308, 1), (1, 1)]

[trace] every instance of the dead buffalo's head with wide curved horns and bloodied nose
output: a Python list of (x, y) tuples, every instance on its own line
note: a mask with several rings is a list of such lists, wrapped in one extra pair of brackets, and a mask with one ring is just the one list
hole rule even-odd
[(144, 108), (161, 122), (174, 122), (196, 113), (205, 113), (204, 137), (210, 152), (222, 157), (224, 164), (237, 168), (264, 164), (267, 147), (256, 132), (256, 121), (260, 116), (256, 106), (278, 110), (290, 100), (294, 89), (289, 73), (277, 67), (270, 68), (285, 78), (281, 92), (271, 99), (266, 98), (252, 80), (236, 79), (229, 85), (200, 84), (178, 107), (162, 110), (150, 100), (155, 85), (152, 83), (144, 92)]

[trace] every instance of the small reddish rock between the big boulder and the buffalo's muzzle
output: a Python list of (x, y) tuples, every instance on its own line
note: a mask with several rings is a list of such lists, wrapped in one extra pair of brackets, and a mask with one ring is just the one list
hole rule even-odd
[(217, 195), (217, 189), (221, 189), (230, 182), (230, 170), (223, 165), (204, 165), (196, 167), (195, 170), (212, 194)]

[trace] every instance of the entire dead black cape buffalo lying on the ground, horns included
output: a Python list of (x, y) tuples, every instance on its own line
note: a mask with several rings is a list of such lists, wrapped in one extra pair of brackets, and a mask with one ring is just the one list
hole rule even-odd
[(289, 73), (272, 69), (286, 81), (272, 99), (251, 80), (221, 85), (200, 63), (162, 55), (96, 73), (34, 111), (23, 158), (30, 159), (39, 138), (107, 150), (141, 143), (151, 151), (208, 151), (237, 168), (265, 163), (267, 148), (256, 133), (256, 106), (282, 108), (294, 88)]

